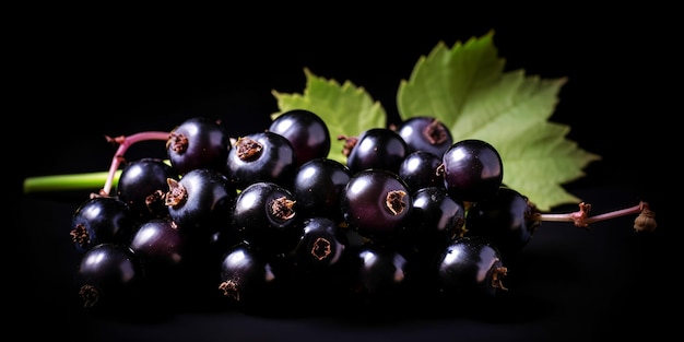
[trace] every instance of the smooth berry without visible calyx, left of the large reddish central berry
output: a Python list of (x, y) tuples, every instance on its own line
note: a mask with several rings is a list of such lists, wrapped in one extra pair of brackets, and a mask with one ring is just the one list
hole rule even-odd
[(342, 222), (340, 197), (351, 176), (349, 167), (334, 160), (315, 158), (304, 163), (292, 186), (298, 213)]

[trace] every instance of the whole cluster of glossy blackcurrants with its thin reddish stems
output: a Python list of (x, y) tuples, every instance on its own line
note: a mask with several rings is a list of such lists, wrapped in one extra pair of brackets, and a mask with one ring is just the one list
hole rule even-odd
[[(109, 177), (72, 219), (83, 306), (186, 297), (316, 314), (333, 300), (488, 299), (507, 291), (506, 260), (542, 221), (587, 227), (638, 214), (635, 231), (656, 227), (645, 202), (598, 216), (588, 203), (543, 214), (503, 184), (493, 145), (455, 141), (432, 117), (337, 137), (346, 164), (328, 157), (331, 139), (303, 109), (239, 138), (194, 117), (170, 132), (110, 139)], [(166, 141), (168, 160), (126, 161), (144, 140)]]

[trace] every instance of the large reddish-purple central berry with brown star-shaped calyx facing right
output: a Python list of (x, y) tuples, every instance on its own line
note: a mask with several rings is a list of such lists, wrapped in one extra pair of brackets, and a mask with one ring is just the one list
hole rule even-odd
[(410, 215), (412, 196), (397, 174), (369, 168), (350, 178), (340, 202), (352, 229), (367, 238), (388, 238), (400, 232)]

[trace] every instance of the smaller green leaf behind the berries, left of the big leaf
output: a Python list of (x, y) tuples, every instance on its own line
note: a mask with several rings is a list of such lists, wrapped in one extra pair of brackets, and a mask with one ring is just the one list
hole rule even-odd
[(304, 94), (283, 94), (273, 91), (280, 111), (272, 119), (292, 109), (308, 109), (328, 125), (331, 137), (329, 157), (346, 164), (342, 153), (344, 141), (338, 137), (356, 137), (369, 128), (385, 127), (387, 114), (379, 102), (374, 101), (363, 87), (346, 81), (342, 85), (326, 80), (304, 69), (306, 89)]

